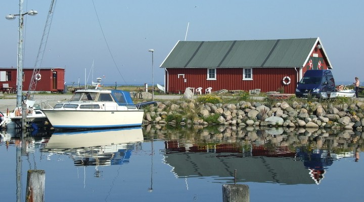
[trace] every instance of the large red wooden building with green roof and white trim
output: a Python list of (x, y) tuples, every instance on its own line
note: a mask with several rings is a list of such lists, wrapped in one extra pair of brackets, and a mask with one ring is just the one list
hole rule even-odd
[(178, 41), (160, 66), (167, 92), (261, 89), (295, 93), (308, 69), (332, 69), (320, 38)]

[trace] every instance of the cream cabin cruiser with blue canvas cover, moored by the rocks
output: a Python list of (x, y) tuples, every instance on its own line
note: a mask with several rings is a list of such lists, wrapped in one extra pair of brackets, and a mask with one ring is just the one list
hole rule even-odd
[[(100, 84), (101, 78), (98, 78)], [(42, 109), (55, 129), (97, 129), (141, 126), (144, 110), (132, 102), (124, 90), (77, 90), (67, 102)]]

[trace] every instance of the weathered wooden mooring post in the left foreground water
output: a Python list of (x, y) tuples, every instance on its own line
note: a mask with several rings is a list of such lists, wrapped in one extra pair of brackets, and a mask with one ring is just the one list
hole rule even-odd
[(26, 188), (26, 202), (44, 201), (44, 184), (45, 184), (45, 171), (44, 170), (28, 170), (27, 188)]

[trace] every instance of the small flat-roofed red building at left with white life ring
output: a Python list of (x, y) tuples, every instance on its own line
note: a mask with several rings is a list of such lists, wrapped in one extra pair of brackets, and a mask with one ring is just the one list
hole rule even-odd
[[(23, 91), (29, 89), (29, 84), (33, 74), (33, 68), (23, 68)], [(37, 79), (34, 91), (63, 92), (65, 85), (64, 68), (40, 68), (39, 74), (33, 79)], [(0, 89), (3, 92), (14, 91), (17, 86), (17, 68), (0, 68)]]

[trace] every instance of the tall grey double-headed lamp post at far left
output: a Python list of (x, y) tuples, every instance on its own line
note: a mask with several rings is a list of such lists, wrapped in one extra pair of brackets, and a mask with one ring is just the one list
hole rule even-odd
[(19, 0), (19, 14), (10, 14), (5, 16), (8, 20), (15, 20), (15, 16), (19, 16), (19, 36), (18, 36), (18, 77), (17, 77), (17, 107), (22, 105), (23, 92), (23, 18), (25, 15), (35, 16), (38, 12), (30, 10), (23, 13), (23, 0)]

